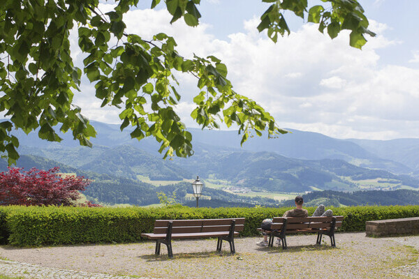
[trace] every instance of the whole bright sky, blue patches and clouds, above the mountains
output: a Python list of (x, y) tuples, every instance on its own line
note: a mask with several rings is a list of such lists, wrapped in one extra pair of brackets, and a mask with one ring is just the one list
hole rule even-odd
[[(360, 1), (377, 33), (367, 36), (362, 50), (349, 46), (348, 32), (331, 40), (317, 26), (291, 13), (290, 36), (275, 44), (256, 27), (268, 7), (254, 0), (201, 0), (198, 27), (183, 20), (170, 25), (164, 4), (150, 10), (150, 1), (128, 11), (128, 33), (149, 39), (164, 32), (173, 36), (177, 50), (189, 58), (214, 55), (226, 63), (228, 79), (237, 93), (256, 100), (281, 128), (293, 128), (340, 139), (390, 140), (419, 137), (419, 1)], [(163, 2), (163, 1), (162, 1)], [(316, 1), (309, 1), (309, 6)], [(101, 10), (112, 9), (102, 1)], [(82, 68), (83, 54), (75, 33), (72, 56)], [(176, 107), (187, 127), (198, 127), (190, 117), (195, 77), (175, 73), (182, 99)], [(84, 78), (75, 103), (89, 119), (121, 123), (119, 112), (100, 108), (94, 84)], [(237, 129), (237, 127), (233, 127)]]

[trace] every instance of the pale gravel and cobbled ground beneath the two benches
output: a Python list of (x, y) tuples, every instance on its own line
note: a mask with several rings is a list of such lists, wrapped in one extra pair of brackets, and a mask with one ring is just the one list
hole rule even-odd
[[(0, 246), (0, 273), (32, 278), (419, 278), (419, 236), (374, 239), (336, 235), (337, 248), (315, 246), (316, 235), (287, 237), (288, 250), (236, 239), (237, 254), (214, 252), (216, 240), (174, 241), (174, 258), (154, 243), (13, 248)], [(12, 262), (10, 262), (12, 261)], [(18, 264), (24, 262), (26, 264)], [(112, 277), (113, 276), (113, 277)], [(129, 277), (127, 277), (129, 276)]]

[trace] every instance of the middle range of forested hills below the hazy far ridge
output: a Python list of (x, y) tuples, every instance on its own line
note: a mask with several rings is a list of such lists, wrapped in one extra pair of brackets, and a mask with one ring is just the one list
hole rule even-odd
[[(30, 152), (31, 149), (22, 147), (23, 151)], [(142, 179), (144, 182), (182, 181), (199, 175), (203, 179), (221, 179), (231, 185), (255, 191), (283, 193), (419, 187), (419, 179), (411, 176), (396, 175), (381, 169), (357, 167), (344, 160), (300, 160), (286, 158), (274, 152), (254, 153), (235, 149), (232, 151), (201, 144), (198, 144), (196, 154), (191, 158), (174, 158), (174, 160), (162, 160), (159, 156), (130, 145), (95, 146), (93, 149), (86, 147), (36, 149), (34, 153), (55, 160), (64, 159), (66, 163), (84, 172), (110, 174), (134, 180)], [(28, 159), (23, 158), (22, 163), (26, 160)], [(38, 160), (43, 159), (38, 158)], [(392, 183), (378, 183), (385, 179)], [(375, 180), (375, 185), (370, 186), (372, 183), (367, 180)]]

